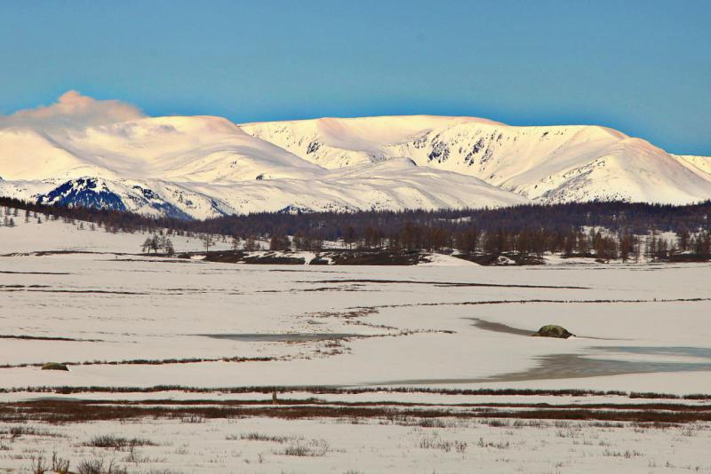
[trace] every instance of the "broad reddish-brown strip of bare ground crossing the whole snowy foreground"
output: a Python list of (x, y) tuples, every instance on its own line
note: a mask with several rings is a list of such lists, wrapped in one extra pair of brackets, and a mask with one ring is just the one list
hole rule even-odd
[(394, 422), (410, 419), (568, 420), (682, 424), (711, 421), (711, 406), (684, 404), (464, 404), (449, 407), (413, 403), (325, 402), (289, 400), (77, 400), (37, 399), (0, 404), (0, 421), (21, 423), (79, 423), (142, 417), (204, 419), (237, 417), (361, 418)]

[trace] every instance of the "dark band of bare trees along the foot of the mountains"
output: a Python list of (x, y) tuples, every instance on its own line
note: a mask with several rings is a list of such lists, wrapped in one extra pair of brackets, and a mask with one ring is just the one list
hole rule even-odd
[[(342, 241), (353, 249), (446, 250), (469, 254), (653, 259), (711, 257), (711, 201), (673, 206), (592, 201), (503, 209), (255, 213), (206, 220), (143, 217), (107, 209), (51, 207), (0, 198), (0, 206), (91, 221), (108, 232), (222, 234), (235, 241), (267, 239), (271, 249), (322, 249)], [(674, 233), (674, 237), (663, 233)], [(292, 236), (292, 241), (285, 236)], [(647, 235), (644, 246), (639, 236)]]

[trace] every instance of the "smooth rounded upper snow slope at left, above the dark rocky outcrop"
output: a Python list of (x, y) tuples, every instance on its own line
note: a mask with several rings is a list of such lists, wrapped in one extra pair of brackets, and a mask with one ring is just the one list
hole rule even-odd
[(40, 132), (0, 129), (4, 179), (303, 178), (321, 169), (220, 117), (156, 117)]

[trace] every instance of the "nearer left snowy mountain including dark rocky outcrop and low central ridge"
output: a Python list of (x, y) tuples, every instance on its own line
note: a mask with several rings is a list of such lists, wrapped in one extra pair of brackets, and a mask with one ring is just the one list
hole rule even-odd
[(528, 201), (480, 179), (420, 168), (408, 159), (326, 170), (219, 117), (51, 125), (0, 120), (0, 194), (197, 218)]

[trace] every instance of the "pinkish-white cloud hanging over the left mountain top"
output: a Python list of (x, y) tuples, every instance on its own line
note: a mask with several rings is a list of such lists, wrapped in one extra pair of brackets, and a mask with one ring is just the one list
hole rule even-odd
[(0, 128), (25, 126), (41, 130), (83, 129), (143, 117), (138, 107), (120, 100), (97, 100), (77, 91), (65, 92), (51, 106), (0, 115)]

